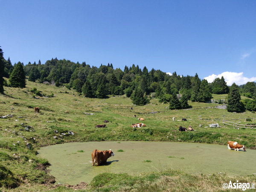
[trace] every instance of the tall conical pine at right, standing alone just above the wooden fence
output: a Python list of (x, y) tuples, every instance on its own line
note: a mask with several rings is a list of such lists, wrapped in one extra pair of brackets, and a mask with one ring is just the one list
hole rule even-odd
[(235, 83), (230, 87), (230, 92), (227, 95), (227, 111), (241, 112), (241, 95), (239, 93), (239, 86)]

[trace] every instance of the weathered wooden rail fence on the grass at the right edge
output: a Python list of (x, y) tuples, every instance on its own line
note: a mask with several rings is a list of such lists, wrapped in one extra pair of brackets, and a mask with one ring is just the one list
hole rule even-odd
[[(245, 119), (244, 122), (240, 122), (240, 120)], [(247, 121), (247, 119), (252, 119), (252, 121)], [(230, 125), (233, 126), (233, 128), (250, 128), (250, 129), (255, 129), (256, 128), (256, 123), (254, 123), (255, 118), (239, 118), (239, 119), (229, 119), (229, 120), (224, 120), (223, 118), (223, 124), (224, 125)], [(232, 122), (232, 121), (238, 121), (238, 122)]]

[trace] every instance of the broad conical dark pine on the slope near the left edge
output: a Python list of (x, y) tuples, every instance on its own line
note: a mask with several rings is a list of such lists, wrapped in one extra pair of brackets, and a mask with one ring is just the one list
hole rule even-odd
[(11, 73), (9, 83), (12, 87), (26, 87), (25, 72), (23, 70), (23, 65), (20, 61), (15, 64), (14, 70)]

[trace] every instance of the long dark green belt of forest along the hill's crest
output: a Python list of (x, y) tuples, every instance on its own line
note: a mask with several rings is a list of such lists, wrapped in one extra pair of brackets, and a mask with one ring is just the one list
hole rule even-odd
[[(124, 70), (113, 68), (112, 64), (92, 66), (82, 62), (57, 58), (47, 60), (45, 64), (34, 62), (24, 65), (21, 62), (12, 65), (10, 58), (3, 58), (3, 51), (0, 49), (0, 91), (3, 93), (3, 86), (26, 87), (26, 76), (28, 81), (39, 83), (54, 82), (55, 86), (66, 86), (75, 89), (78, 93), (90, 98), (106, 98), (108, 95), (123, 95), (130, 97), (134, 104), (145, 105), (151, 98), (159, 99), (159, 102), (168, 103), (170, 109), (189, 108), (188, 100), (192, 102), (208, 102), (214, 94), (227, 94), (228, 101), (234, 95), (239, 104), (228, 111), (240, 112), (245, 109), (256, 111), (256, 85), (254, 82), (247, 82), (241, 87), (233, 84), (227, 86), (223, 77), (216, 78), (212, 83), (206, 79), (195, 76), (180, 76), (176, 72), (172, 75), (161, 70), (147, 67), (143, 70), (137, 65), (125, 66)], [(9, 78), (9, 81), (3, 79)], [(233, 87), (236, 87), (234, 94)], [(232, 92), (232, 93), (231, 93)], [(241, 95), (252, 99), (241, 102)], [(234, 101), (233, 101), (234, 102)], [(231, 105), (230, 105), (231, 106)], [(234, 106), (232, 104), (232, 106)], [(239, 109), (238, 109), (239, 108)]]

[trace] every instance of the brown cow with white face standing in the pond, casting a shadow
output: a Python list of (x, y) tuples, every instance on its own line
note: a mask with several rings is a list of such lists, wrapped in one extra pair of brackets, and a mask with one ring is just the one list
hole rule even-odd
[(114, 156), (115, 154), (111, 149), (106, 151), (100, 151), (95, 149), (92, 152), (92, 160), (93, 160), (93, 166), (97, 163), (97, 166), (99, 166), (100, 163), (106, 163), (107, 159), (111, 156)]

